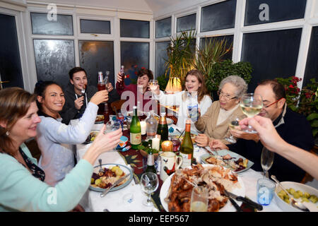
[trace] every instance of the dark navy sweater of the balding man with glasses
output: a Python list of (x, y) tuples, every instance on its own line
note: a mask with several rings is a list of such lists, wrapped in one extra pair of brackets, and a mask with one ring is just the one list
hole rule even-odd
[[(281, 121), (282, 118), (283, 123)], [(310, 123), (301, 114), (286, 108), (285, 111), (273, 121), (273, 124), (276, 126), (278, 134), (287, 143), (307, 151), (312, 149), (314, 138), (312, 136)], [(238, 139), (237, 143), (228, 145), (228, 147), (235, 153), (239, 153), (254, 162), (252, 169), (263, 171), (261, 168), (261, 150), (263, 148), (261, 141), (256, 143), (255, 141)], [(269, 169), (269, 174), (275, 175), (281, 182), (301, 182), (303, 177), (305, 177), (304, 170), (278, 154), (275, 154), (273, 165), (271, 169)]]

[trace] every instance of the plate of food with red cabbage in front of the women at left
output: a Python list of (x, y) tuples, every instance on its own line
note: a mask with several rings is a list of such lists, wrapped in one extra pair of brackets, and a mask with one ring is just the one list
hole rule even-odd
[(100, 166), (95, 166), (93, 169), (93, 175), (90, 179), (90, 190), (102, 192), (105, 189), (109, 188), (121, 177), (124, 177), (126, 174), (130, 174), (129, 177), (124, 179), (121, 183), (114, 186), (110, 191), (117, 191), (119, 189), (127, 186), (133, 177), (131, 169), (124, 165), (120, 164), (102, 164), (102, 169), (104, 169), (104, 173), (100, 173)]

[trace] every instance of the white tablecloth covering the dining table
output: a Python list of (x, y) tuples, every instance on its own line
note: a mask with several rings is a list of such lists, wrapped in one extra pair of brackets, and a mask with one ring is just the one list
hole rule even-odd
[[(102, 124), (95, 124), (92, 130), (99, 130), (101, 128)], [(175, 127), (175, 126), (173, 126)], [(86, 153), (86, 150), (88, 149), (88, 145), (78, 144), (76, 145), (76, 155), (78, 157), (78, 160), (83, 157), (83, 155)], [(194, 146), (194, 157), (196, 157), (197, 162), (201, 162), (200, 156), (206, 154), (206, 150), (203, 148), (199, 148), (196, 145)], [(124, 158), (117, 153), (117, 151), (114, 152), (108, 152), (103, 153), (98, 157), (98, 159), (102, 159), (102, 163), (115, 163), (115, 164), (121, 164), (126, 165), (126, 162), (124, 161)], [(95, 165), (99, 165), (98, 160), (96, 160)], [(257, 200), (257, 179), (263, 177), (261, 172), (256, 172), (253, 169), (248, 169), (245, 172), (242, 172), (239, 174), (239, 177), (242, 177), (242, 181), (245, 185), (245, 196), (252, 199), (252, 201)], [(133, 194), (134, 200), (131, 203), (124, 203), (122, 200), (122, 197), (125, 194)], [(110, 211), (120, 211), (120, 212), (149, 212), (149, 211), (155, 211), (157, 209), (152, 207), (146, 207), (143, 206), (142, 201), (145, 199), (146, 196), (143, 195), (141, 191), (141, 186), (136, 185), (134, 183), (134, 180), (131, 181), (131, 183), (124, 187), (123, 189), (119, 189), (117, 191), (111, 191), (107, 196), (100, 198), (100, 193), (95, 191), (88, 190), (83, 196), (81, 205), (86, 209), (86, 211), (93, 211), (93, 212), (100, 212), (103, 211), (105, 208), (107, 208)], [(232, 204), (231, 204), (232, 205)], [(281, 212), (282, 210), (278, 208), (275, 198), (271, 201), (271, 204), (269, 206), (264, 206), (263, 210), (264, 212)]]

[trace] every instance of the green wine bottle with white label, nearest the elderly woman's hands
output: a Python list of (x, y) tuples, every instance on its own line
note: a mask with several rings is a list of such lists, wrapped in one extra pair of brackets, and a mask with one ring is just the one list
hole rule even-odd
[(184, 138), (180, 147), (180, 156), (182, 157), (182, 168), (186, 168), (193, 163), (193, 143), (191, 138), (191, 120), (187, 119)]

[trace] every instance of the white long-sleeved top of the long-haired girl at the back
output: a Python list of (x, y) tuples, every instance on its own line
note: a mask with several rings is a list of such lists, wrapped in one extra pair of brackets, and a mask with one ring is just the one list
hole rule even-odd
[[(165, 94), (163, 91), (160, 90), (159, 95), (153, 94), (153, 98), (155, 100), (160, 101), (160, 105), (179, 105), (179, 112), (177, 115), (177, 126), (179, 128), (185, 129), (185, 122), (188, 119), (187, 112), (188, 112), (188, 104), (189, 104), (189, 98), (187, 97), (185, 100), (182, 100), (182, 95), (184, 95), (186, 91), (181, 91), (179, 93), (175, 94)], [(206, 111), (208, 110), (208, 107), (212, 105), (212, 100), (208, 95), (205, 95), (201, 102), (199, 102), (199, 109), (201, 110), (201, 115), (204, 115)], [(193, 131), (196, 131), (199, 133), (199, 131), (196, 129), (196, 126), (194, 126), (194, 123), (192, 122), (191, 129)]]

